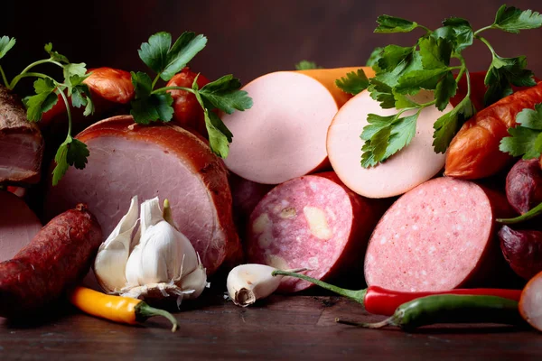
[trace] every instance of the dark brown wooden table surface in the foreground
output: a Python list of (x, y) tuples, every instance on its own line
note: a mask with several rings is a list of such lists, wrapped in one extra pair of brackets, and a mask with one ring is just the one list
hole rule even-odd
[(336, 317), (382, 317), (335, 296), (276, 295), (239, 308), (214, 294), (184, 302), (175, 333), (166, 319), (132, 327), (61, 308), (33, 325), (0, 319), (0, 360), (542, 359), (542, 334), (530, 329), (447, 325), (406, 333), (336, 324)]

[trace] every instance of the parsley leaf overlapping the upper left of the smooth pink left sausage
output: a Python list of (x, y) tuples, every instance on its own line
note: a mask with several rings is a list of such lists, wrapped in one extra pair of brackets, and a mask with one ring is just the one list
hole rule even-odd
[(210, 82), (199, 90), (201, 97), (210, 102), (212, 106), (231, 114), (236, 109), (245, 110), (252, 106), (252, 98), (241, 88), (241, 82), (233, 75), (225, 75)]

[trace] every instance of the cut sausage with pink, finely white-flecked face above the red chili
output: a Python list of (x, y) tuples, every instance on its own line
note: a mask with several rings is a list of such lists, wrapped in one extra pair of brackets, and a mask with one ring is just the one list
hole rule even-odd
[(511, 214), (496, 191), (447, 177), (429, 180), (397, 199), (378, 222), (365, 279), (406, 292), (496, 285), (509, 267), (494, 221)]

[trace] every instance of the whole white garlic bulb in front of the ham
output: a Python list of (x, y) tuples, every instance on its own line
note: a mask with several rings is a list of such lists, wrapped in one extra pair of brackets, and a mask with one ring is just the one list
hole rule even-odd
[[(104, 255), (98, 253), (100, 262), (98, 263), (97, 256), (94, 266), (98, 282), (113, 284), (105, 280), (115, 280), (113, 288), (104, 287), (107, 292), (113, 291), (123, 296), (143, 299), (176, 295), (177, 303), (180, 304), (182, 299), (198, 297), (203, 289), (209, 286), (200, 257), (188, 238), (175, 226), (167, 200), (164, 201), (164, 206), (163, 213), (158, 198), (143, 202), (140, 227), (128, 248), (126, 239), (121, 237), (123, 233), (114, 231), (109, 236), (113, 238), (109, 243), (124, 242), (124, 249), (128, 249), (126, 258), (114, 256), (106, 246), (103, 250), (100, 247)], [(125, 218), (128, 218), (127, 216), (126, 214)], [(125, 218), (117, 227), (122, 228), (120, 224)], [(130, 236), (132, 233), (133, 227)], [(111, 252), (111, 255), (107, 252)]]

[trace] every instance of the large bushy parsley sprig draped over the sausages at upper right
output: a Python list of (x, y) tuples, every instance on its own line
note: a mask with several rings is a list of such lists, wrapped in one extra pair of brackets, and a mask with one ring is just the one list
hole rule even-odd
[[(455, 96), (458, 82), (467, 80), (467, 94), (463, 100), (448, 113), (440, 116), (434, 125), (435, 153), (444, 153), (453, 136), (463, 123), (475, 112), (471, 101), (471, 81), (463, 51), (479, 40), (491, 51), (491, 66), (485, 78), (489, 87), (485, 94), (485, 103), (491, 103), (506, 97), (512, 92), (512, 86), (534, 86), (533, 73), (527, 67), (525, 57), (500, 57), (481, 32), (497, 29), (504, 32), (518, 33), (521, 30), (536, 29), (542, 26), (542, 15), (531, 10), (521, 11), (513, 6), (500, 6), (495, 21), (477, 31), (462, 18), (451, 17), (443, 26), (431, 30), (422, 24), (394, 16), (382, 15), (377, 20), (375, 32), (413, 32), (423, 31), (413, 46), (402, 47), (388, 45), (373, 51), (369, 58), (375, 70), (375, 77), (369, 79), (351, 79), (349, 82), (338, 81), (339, 88), (346, 92), (355, 88), (360, 92), (363, 87), (369, 89), (370, 97), (383, 108), (397, 108), (395, 116), (369, 114), (368, 122), (360, 138), (365, 141), (361, 151), (361, 166), (369, 168), (385, 162), (390, 156), (408, 145), (416, 134), (416, 121), (425, 107), (435, 106), (443, 111), (450, 98)], [(453, 65), (454, 62), (457, 65)], [(420, 90), (432, 90), (434, 99), (419, 104), (412, 96)]]

